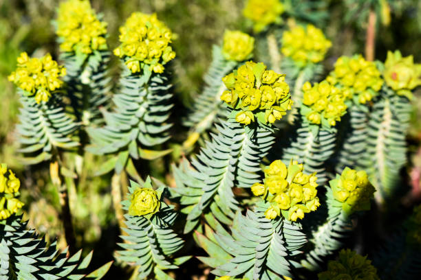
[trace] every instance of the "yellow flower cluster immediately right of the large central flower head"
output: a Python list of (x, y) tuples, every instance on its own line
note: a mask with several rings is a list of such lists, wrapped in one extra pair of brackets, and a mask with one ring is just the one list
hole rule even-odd
[(326, 80), (315, 83), (314, 86), (310, 82), (303, 84), (301, 114), (312, 124), (336, 126), (336, 121), (341, 121), (346, 110), (341, 89)]

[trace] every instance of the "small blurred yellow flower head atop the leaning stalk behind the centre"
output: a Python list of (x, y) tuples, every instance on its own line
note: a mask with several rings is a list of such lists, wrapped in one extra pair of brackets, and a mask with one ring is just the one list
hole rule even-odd
[(255, 47), (255, 38), (241, 31), (226, 30), (222, 54), (226, 60), (244, 61), (250, 58)]

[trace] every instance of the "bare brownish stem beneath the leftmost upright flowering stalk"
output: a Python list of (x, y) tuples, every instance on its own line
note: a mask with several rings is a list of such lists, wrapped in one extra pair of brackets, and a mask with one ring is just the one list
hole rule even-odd
[(69, 253), (76, 253), (76, 237), (74, 235), (72, 213), (69, 207), (69, 194), (67, 186), (63, 182), (63, 176), (60, 173), (60, 166), (58, 161), (50, 163), (50, 177), (52, 183), (56, 186), (58, 191), (58, 198), (61, 207), (61, 220), (63, 220), (63, 228), (65, 231), (65, 240), (69, 246)]

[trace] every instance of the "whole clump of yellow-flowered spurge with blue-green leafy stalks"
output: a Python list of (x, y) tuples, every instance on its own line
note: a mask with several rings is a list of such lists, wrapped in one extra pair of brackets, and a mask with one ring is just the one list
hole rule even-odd
[(23, 52), (9, 80), (22, 161), (47, 163), (68, 249), (28, 229), (20, 180), (1, 164), (0, 279), (106, 277), (111, 262), (86, 272), (69, 200), (92, 154), (94, 176), (111, 177), (112, 268), (130, 279), (187, 279), (193, 266), (224, 280), (415, 279), (420, 207), (389, 240), (367, 231), (380, 235), (402, 198), (421, 65), (390, 51), (384, 62), (341, 56), (327, 73), (332, 42), (313, 2), (247, 1), (250, 29), (209, 49), (184, 119), (172, 117), (176, 36), (164, 19), (133, 12), (111, 54), (89, 1), (61, 3), (58, 61)]

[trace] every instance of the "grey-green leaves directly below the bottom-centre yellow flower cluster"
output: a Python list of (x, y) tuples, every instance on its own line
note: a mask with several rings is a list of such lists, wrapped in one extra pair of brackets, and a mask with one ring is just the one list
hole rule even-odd
[(196, 233), (199, 245), (208, 257), (198, 257), (215, 268), (217, 276), (242, 279), (284, 279), (293, 277), (294, 255), (307, 241), (301, 225), (283, 216), (272, 220), (265, 217), (268, 203), (258, 202), (246, 215), (237, 212), (230, 233), (210, 217), (206, 233)]

